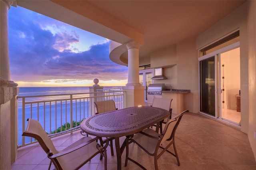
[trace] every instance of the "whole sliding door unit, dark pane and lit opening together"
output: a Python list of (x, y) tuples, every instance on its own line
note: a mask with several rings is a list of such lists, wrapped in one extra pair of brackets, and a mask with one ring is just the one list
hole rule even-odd
[[(239, 45), (236, 42), (198, 58), (199, 112), (237, 125), (240, 125)], [(231, 118), (231, 115), (238, 116)]]

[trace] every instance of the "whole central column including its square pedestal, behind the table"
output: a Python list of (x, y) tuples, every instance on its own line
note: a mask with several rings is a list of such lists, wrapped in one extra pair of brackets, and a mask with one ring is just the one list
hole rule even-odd
[(144, 86), (140, 84), (139, 79), (139, 48), (137, 42), (126, 44), (128, 49), (128, 83), (123, 87), (124, 108), (133, 106), (144, 106)]

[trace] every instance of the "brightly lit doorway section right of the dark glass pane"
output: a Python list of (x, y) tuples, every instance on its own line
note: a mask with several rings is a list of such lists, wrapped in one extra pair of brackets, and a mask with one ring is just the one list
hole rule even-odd
[(240, 126), (240, 47), (220, 53), (220, 118)]

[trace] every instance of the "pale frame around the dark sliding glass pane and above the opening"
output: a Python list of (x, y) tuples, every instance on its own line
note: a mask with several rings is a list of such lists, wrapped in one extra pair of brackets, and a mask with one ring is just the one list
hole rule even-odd
[[(218, 95), (218, 93), (221, 93), (221, 77), (218, 76), (218, 71), (220, 73), (220, 53), (224, 53), (226, 51), (230, 51), (232, 49), (235, 49), (237, 47), (240, 47), (240, 42), (233, 43), (231, 45), (227, 45), (221, 49), (218, 49), (216, 51), (213, 51), (209, 54), (203, 55), (202, 57), (198, 57), (198, 112), (200, 114), (206, 115), (208, 117), (214, 117), (212, 115), (200, 112), (200, 61), (204, 59), (208, 59), (210, 57), (215, 56), (214, 62), (215, 62), (215, 117), (214, 118), (221, 118), (221, 107), (218, 107), (218, 101), (221, 101), (221, 95)], [(199, 50), (198, 50), (199, 51)], [(199, 56), (199, 55), (198, 55)], [(241, 58), (240, 58), (241, 60)], [(218, 84), (217, 84), (218, 83)]]

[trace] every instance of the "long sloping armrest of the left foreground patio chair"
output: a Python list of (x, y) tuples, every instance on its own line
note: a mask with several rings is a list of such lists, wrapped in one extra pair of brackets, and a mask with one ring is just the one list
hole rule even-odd
[[(60, 152), (60, 153), (58, 153), (58, 154), (53, 154), (53, 153), (52, 153), (52, 150), (49, 150), (48, 153), (47, 153), (48, 158), (58, 158), (58, 157), (60, 157), (60, 156), (69, 154), (69, 153), (71, 153), (71, 152), (74, 152), (75, 150), (78, 150), (78, 149), (80, 149), (80, 148), (82, 148), (82, 147), (84, 147), (84, 146), (86, 146), (86, 145), (88, 145), (88, 144), (94, 142), (95, 140), (97, 140), (97, 139), (99, 139), (99, 138), (100, 138), (100, 137), (93, 138), (93, 139), (88, 140), (87, 142), (85, 142), (85, 143), (83, 143), (83, 144), (80, 144), (80, 145), (78, 145), (78, 146), (76, 146), (76, 147), (74, 147), (74, 148), (72, 148), (72, 149), (65, 150), (65, 151)], [(97, 149), (98, 149), (99, 151), (106, 149), (106, 147), (108, 146), (108, 139), (106, 139), (106, 140), (107, 140), (107, 142), (106, 142), (106, 144), (105, 144), (104, 147), (101, 146), (100, 144), (97, 144), (97, 145), (96, 145), (96, 147), (97, 147)]]

